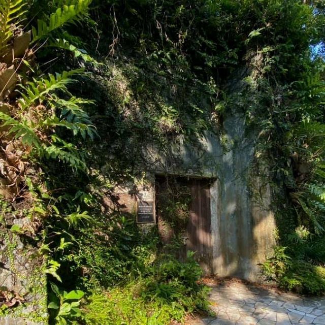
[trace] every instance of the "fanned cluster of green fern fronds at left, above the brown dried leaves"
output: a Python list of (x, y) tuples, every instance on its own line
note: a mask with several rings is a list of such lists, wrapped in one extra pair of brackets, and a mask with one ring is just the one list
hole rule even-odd
[[(57, 135), (48, 136), (53, 128), (66, 128), (74, 136), (81, 135), (93, 138), (96, 134), (88, 115), (81, 109), (81, 105), (92, 104), (79, 98), (59, 99), (55, 91), (69, 95), (67, 85), (72, 83), (73, 75), (81, 74), (82, 70), (64, 71), (62, 74), (49, 75), (48, 78), (34, 79), (27, 86), (21, 86), (22, 98), (19, 100), (20, 110), (16, 118), (0, 112), (3, 126), (9, 126), (8, 135), (31, 148), (30, 155), (36, 154), (39, 158), (45, 156), (67, 163), (75, 170), (86, 170), (82, 156), (73, 143), (69, 143)], [(38, 105), (38, 107), (32, 107)], [(42, 110), (39, 111), (38, 108)], [(56, 110), (61, 110), (61, 119)], [(34, 118), (30, 118), (30, 115)], [(37, 117), (37, 118), (36, 118)], [(40, 118), (42, 117), (42, 118)], [(46, 138), (46, 141), (44, 141)]]

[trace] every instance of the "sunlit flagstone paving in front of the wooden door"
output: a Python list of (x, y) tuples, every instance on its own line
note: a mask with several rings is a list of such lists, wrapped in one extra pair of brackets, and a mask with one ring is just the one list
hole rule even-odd
[(216, 316), (188, 320), (186, 325), (325, 324), (325, 297), (300, 297), (239, 281), (209, 286)]

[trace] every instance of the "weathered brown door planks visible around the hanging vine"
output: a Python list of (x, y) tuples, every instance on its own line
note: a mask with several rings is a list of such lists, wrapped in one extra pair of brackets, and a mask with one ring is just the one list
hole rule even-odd
[[(175, 179), (174, 179), (175, 181)], [(188, 251), (195, 252), (194, 258), (200, 264), (205, 274), (212, 273), (212, 242), (211, 242), (211, 210), (210, 185), (207, 179), (176, 178), (177, 184), (186, 186), (190, 195), (189, 214), (181, 231), (183, 245), (179, 257), (184, 258)], [(161, 209), (160, 197), (165, 196), (168, 181), (165, 177), (156, 178), (156, 211), (158, 231), (165, 244), (172, 242), (175, 231), (166, 222), (164, 211)], [(169, 190), (171, 190), (169, 188)], [(172, 188), (173, 190), (173, 188)], [(171, 193), (173, 195), (173, 193)], [(166, 196), (164, 198), (166, 200)], [(175, 216), (176, 218), (177, 216)]]

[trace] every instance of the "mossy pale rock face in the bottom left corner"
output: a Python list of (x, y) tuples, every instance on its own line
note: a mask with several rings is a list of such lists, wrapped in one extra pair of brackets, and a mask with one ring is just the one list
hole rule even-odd
[(48, 320), (44, 259), (28, 240), (0, 230), (0, 325), (41, 325)]

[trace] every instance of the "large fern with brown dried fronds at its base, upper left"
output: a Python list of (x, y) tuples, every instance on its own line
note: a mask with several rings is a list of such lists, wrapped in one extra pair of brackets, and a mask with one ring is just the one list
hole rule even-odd
[[(29, 47), (41, 38), (49, 35), (64, 24), (76, 22), (80, 15), (86, 12), (91, 1), (72, 1), (57, 8), (50, 15), (49, 23), (38, 20), (38, 29), (32, 28), (33, 39), (30, 43), (29, 34), (18, 33), (18, 38), (13, 33), (15, 28), (19, 30), (23, 21), (23, 15), (28, 7), (27, 1), (3, 1), (1, 4), (1, 15), (3, 24), (0, 42), (2, 48), (10, 43), (10, 46), (2, 52), (4, 64), (13, 60), (13, 65), (2, 70), (2, 84), (0, 84), (1, 99), (3, 104), (0, 110), (2, 120), (1, 145), (4, 154), (2, 161), (2, 178), (0, 190), (6, 198), (14, 200), (22, 196), (21, 189), (24, 175), (28, 174), (25, 169), (27, 156), (22, 157), (18, 152), (28, 157), (37, 159), (58, 159), (70, 165), (73, 169), (85, 170), (83, 158), (74, 144), (68, 143), (53, 133), (55, 128), (66, 128), (74, 136), (81, 135), (82, 138), (89, 136), (93, 138), (95, 128), (87, 114), (81, 109), (82, 105), (91, 105), (91, 101), (75, 98), (69, 95), (67, 86), (74, 82), (75, 75), (83, 74), (82, 70), (63, 71), (61, 74), (49, 74), (47, 78), (31, 78), (26, 72), (22, 73), (23, 67), (30, 70), (33, 50)], [(13, 28), (13, 26), (15, 26)], [(24, 37), (22, 42), (22, 37)], [(16, 42), (22, 45), (15, 46)], [(75, 48), (71, 48), (75, 50)], [(12, 56), (9, 54), (13, 53)], [(80, 54), (79, 54), (80, 55)], [(85, 56), (86, 58), (86, 56)], [(17, 83), (20, 86), (17, 89)], [(15, 90), (16, 89), (16, 90)], [(15, 91), (14, 91), (15, 90)], [(66, 95), (60, 98), (57, 94)], [(17, 104), (13, 105), (13, 98)], [(58, 114), (58, 111), (61, 111)], [(11, 157), (8, 159), (8, 157)]]

